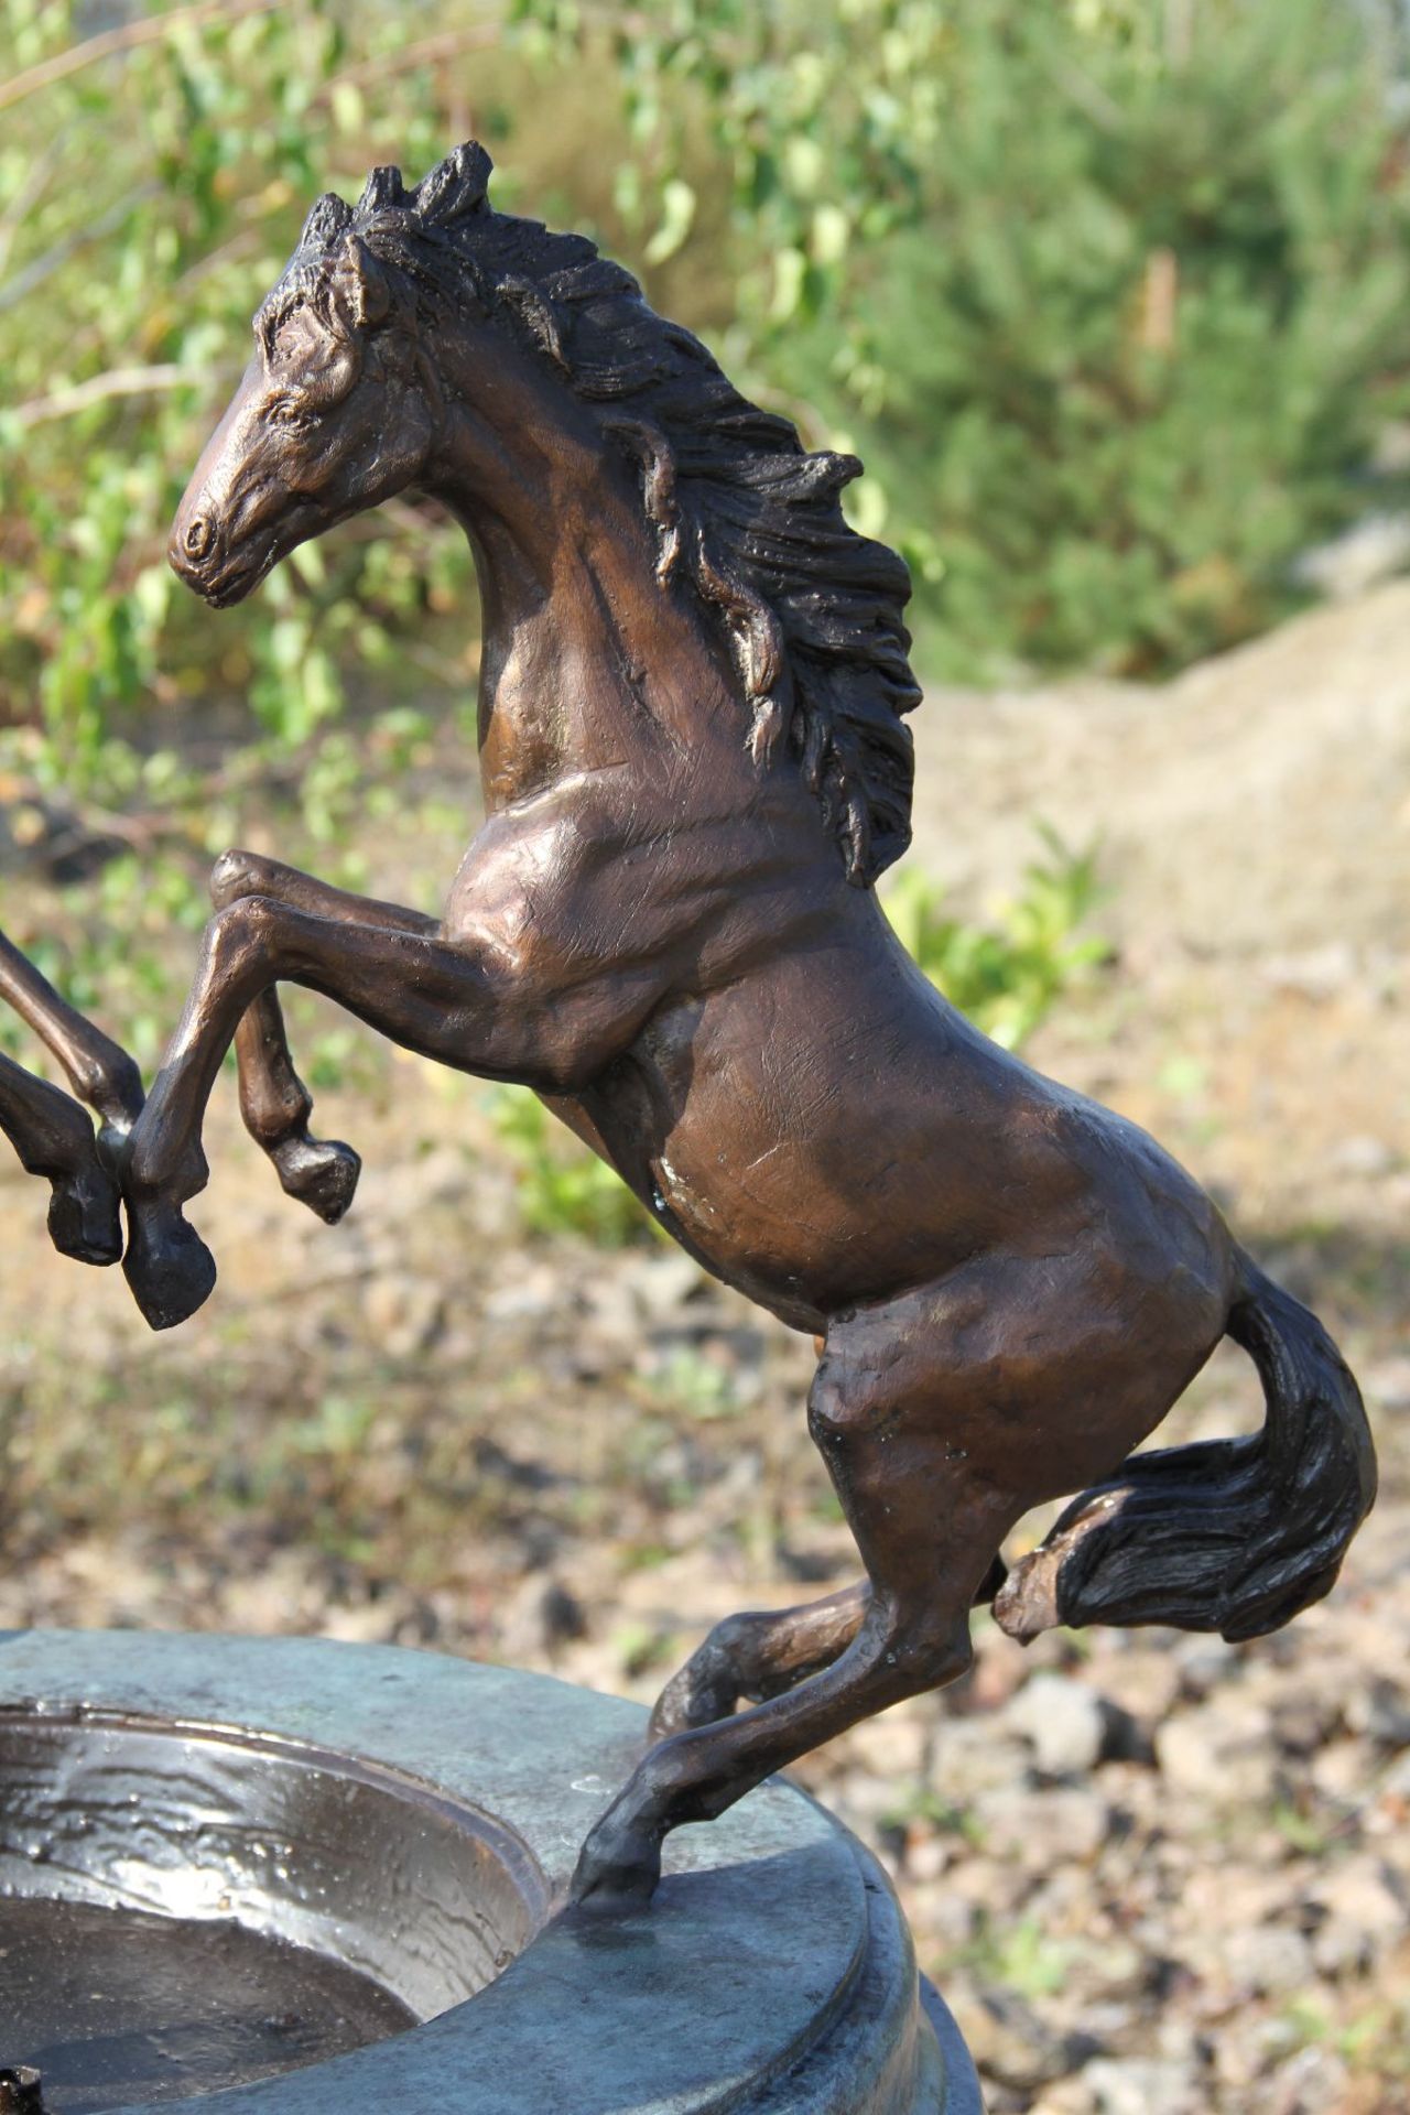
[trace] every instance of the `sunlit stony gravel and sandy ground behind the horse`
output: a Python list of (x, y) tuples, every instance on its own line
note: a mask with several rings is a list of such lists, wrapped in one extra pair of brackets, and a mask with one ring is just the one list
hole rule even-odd
[[(960, 901), (1002, 890), (1034, 814), (1103, 827), (1120, 958), (1032, 1055), (1148, 1123), (1317, 1305), (1385, 1483), (1279, 1637), (1023, 1652), (981, 1618), (962, 1686), (799, 1777), (888, 1861), (994, 2115), (1410, 2109), (1410, 586), (1163, 694), (939, 694), (917, 738), (917, 857)], [(649, 1698), (717, 1616), (852, 1576), (808, 1345), (660, 1246), (522, 1239), (474, 1085), (406, 1062), (330, 1100), (368, 1157), (336, 1233), (228, 1102), (222, 1286), (169, 1339), (0, 1176), (0, 1624), (400, 1639)], [(1256, 1417), (1228, 1349), (1161, 1440)]]

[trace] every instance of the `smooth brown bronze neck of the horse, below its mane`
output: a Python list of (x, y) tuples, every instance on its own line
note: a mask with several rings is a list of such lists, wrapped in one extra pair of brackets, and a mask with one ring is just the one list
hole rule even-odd
[[(715, 626), (655, 577), (641, 491), (592, 417), (550, 376), (497, 376), (493, 423), (457, 389), (435, 476), (480, 577), (480, 766), (486, 802), (662, 755), (740, 772), (744, 709)], [(478, 396), (486, 391), (480, 387)]]

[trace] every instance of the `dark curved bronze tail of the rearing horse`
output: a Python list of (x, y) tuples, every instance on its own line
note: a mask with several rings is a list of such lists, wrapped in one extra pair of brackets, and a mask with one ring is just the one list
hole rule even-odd
[(1074, 1500), (996, 1595), (1013, 1637), (1059, 1622), (1262, 1637), (1330, 1593), (1376, 1497), (1361, 1392), (1317, 1316), (1235, 1256), (1226, 1335), (1264, 1385), (1262, 1432), (1131, 1455)]

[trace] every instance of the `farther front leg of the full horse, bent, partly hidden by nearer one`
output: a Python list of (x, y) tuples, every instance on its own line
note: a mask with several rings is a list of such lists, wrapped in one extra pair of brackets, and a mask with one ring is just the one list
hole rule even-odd
[[(381, 924), (400, 933), (435, 931), (435, 920), (421, 912), (330, 888), (277, 859), (222, 852), (211, 871), (211, 903), (220, 912), (241, 897), (271, 897), (315, 918), (338, 922)], [(361, 1159), (340, 1138), (313, 1138), (309, 1132), (313, 1096), (294, 1070), (283, 1011), (273, 988), (262, 992), (241, 1019), (235, 1032), (235, 1058), (245, 1129), (275, 1163), (285, 1195), (336, 1227), (353, 1201)]]

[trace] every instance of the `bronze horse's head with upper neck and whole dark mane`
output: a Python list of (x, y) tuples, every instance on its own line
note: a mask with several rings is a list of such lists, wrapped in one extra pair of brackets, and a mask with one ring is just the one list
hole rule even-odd
[(755, 766), (797, 759), (869, 886), (909, 842), (920, 687), (907, 569), (841, 512), (860, 463), (803, 448), (586, 237), (490, 207), (488, 176), (469, 142), (410, 190), (374, 169), (355, 207), (319, 199), (254, 319), (171, 565), (237, 603), (408, 486), (450, 508), (478, 565), (507, 552), (531, 596), (564, 548), (619, 535), (643, 592), (655, 575), (723, 628)]

